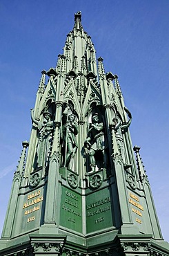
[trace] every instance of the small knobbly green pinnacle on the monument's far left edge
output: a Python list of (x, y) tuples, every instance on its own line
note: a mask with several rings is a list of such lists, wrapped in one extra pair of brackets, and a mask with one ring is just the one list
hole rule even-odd
[(16, 179), (17, 176), (22, 176), (23, 175), (23, 170), (25, 167), (25, 163), (26, 163), (26, 149), (29, 146), (28, 141), (23, 141), (22, 143), (23, 149), (21, 152), (21, 156), (20, 156), (20, 160), (19, 160), (19, 165), (17, 165), (17, 171), (14, 172), (14, 179)]

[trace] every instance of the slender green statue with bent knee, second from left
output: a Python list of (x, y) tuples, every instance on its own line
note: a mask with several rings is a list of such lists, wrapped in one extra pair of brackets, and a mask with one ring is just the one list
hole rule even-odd
[(68, 111), (70, 107), (67, 106), (63, 111), (63, 148), (65, 149), (65, 163), (64, 166), (68, 169), (73, 169), (73, 160), (77, 152), (77, 139), (78, 125), (76, 121), (76, 116)]

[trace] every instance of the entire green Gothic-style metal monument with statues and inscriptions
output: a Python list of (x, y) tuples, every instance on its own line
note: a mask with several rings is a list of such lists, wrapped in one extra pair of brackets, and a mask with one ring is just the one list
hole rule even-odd
[(132, 147), (132, 114), (118, 76), (96, 59), (81, 12), (57, 66), (41, 73), (31, 118), (0, 255), (169, 255)]

